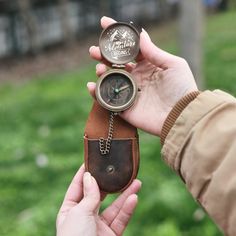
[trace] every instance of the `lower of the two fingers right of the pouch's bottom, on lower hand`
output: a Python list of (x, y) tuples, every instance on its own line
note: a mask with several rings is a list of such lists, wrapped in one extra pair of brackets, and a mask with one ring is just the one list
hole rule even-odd
[(130, 195), (124, 202), (124, 205), (122, 206), (119, 214), (110, 225), (110, 228), (115, 232), (116, 235), (122, 235), (134, 213), (137, 203), (138, 196), (136, 194)]

